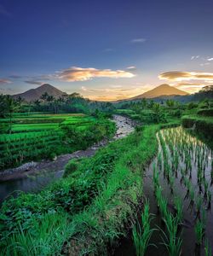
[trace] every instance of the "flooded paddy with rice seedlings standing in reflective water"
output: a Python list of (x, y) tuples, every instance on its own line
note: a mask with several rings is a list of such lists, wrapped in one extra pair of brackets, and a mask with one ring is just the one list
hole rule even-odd
[[(213, 152), (181, 127), (159, 131), (157, 137), (158, 154), (144, 172), (155, 229), (149, 241), (154, 246), (145, 255), (213, 255)], [(113, 255), (136, 255), (132, 230)]]

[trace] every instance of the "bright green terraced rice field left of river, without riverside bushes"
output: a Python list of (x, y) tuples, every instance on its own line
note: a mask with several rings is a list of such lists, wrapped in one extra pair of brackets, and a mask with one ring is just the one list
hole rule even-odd
[[(0, 169), (72, 151), (62, 143), (63, 128), (87, 131), (97, 119), (81, 113), (15, 113), (11, 121), (11, 132), (0, 134)], [(0, 125), (9, 124), (10, 119), (0, 119)]]

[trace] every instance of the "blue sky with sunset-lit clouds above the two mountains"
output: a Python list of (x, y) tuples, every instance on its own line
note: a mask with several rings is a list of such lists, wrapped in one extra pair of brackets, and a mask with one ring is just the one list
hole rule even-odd
[(0, 94), (111, 101), (213, 84), (212, 0), (0, 0)]

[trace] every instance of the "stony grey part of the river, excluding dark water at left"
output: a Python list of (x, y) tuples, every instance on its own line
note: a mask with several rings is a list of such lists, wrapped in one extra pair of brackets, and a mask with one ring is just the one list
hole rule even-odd
[[(127, 117), (121, 115), (114, 115), (112, 119), (117, 126), (117, 131), (112, 140), (126, 137), (130, 132), (134, 131), (134, 122)], [(7, 169), (0, 173), (0, 186), (1, 181), (9, 181), (20, 178), (28, 177), (32, 174), (39, 174), (43, 172), (59, 172), (64, 169), (67, 162), (73, 158), (90, 157), (95, 154), (98, 148), (104, 147), (109, 143), (107, 140), (102, 140), (100, 143), (95, 143), (86, 150), (78, 150), (72, 154), (61, 154), (55, 160), (42, 160), (40, 162), (28, 162), (22, 166)]]

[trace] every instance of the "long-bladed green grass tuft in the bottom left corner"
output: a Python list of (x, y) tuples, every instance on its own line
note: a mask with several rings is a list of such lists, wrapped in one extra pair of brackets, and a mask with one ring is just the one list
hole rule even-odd
[[(20, 225), (17, 233), (9, 237), (9, 246), (4, 247), (0, 252), (1, 255), (53, 255), (67, 236), (67, 218), (66, 215), (62, 216), (57, 213), (46, 214), (43, 217), (43, 224), (34, 234), (27, 233)], [(36, 222), (35, 226), (37, 226)], [(69, 233), (71, 232), (72, 230), (69, 230)]]

